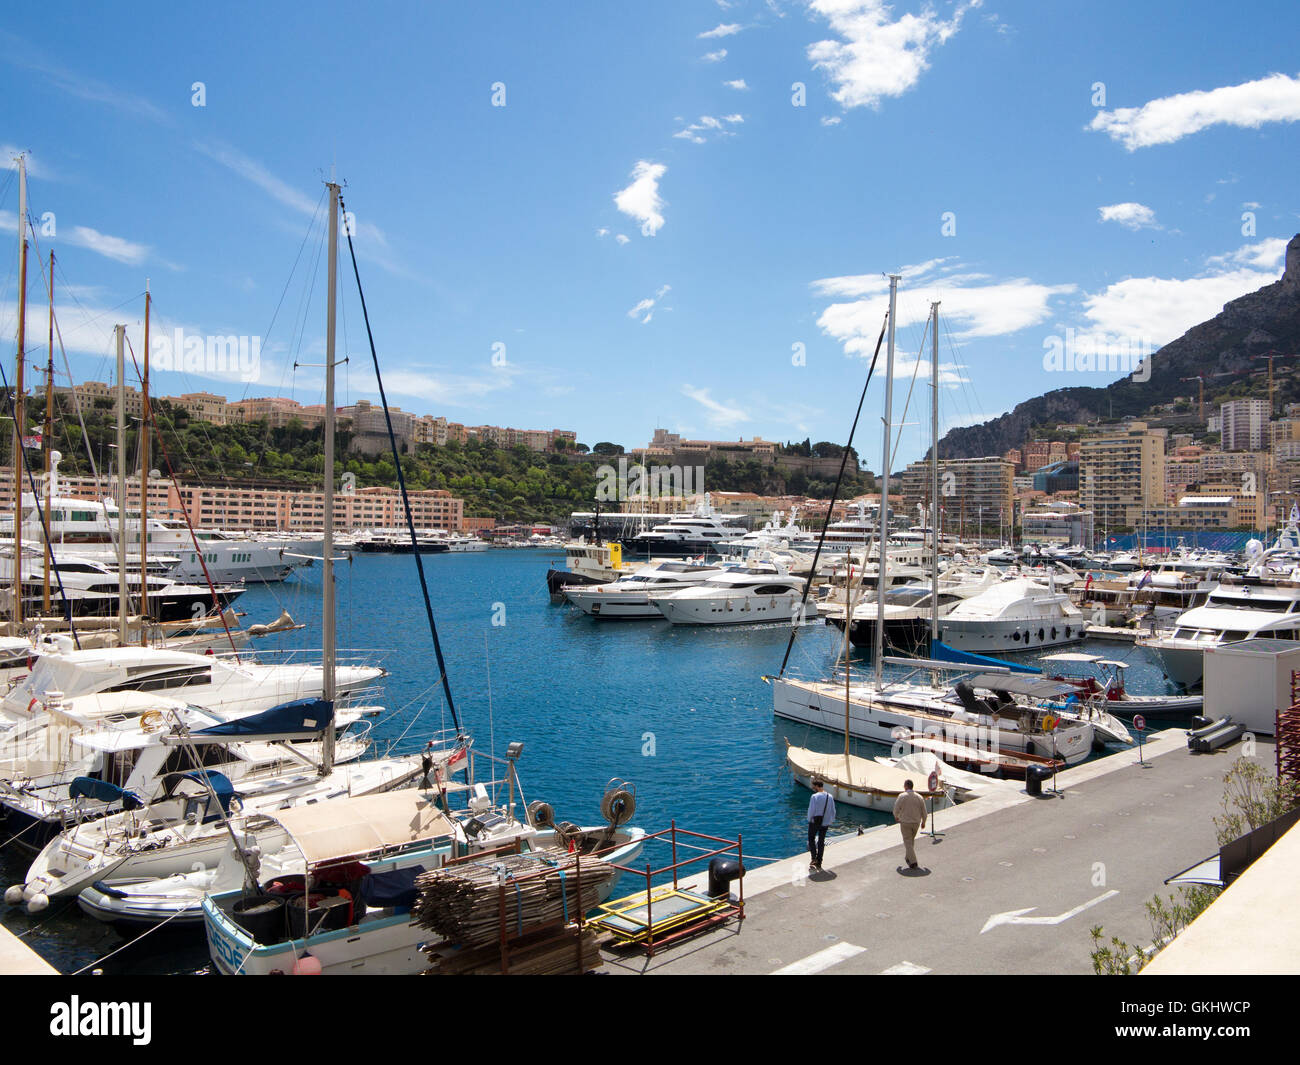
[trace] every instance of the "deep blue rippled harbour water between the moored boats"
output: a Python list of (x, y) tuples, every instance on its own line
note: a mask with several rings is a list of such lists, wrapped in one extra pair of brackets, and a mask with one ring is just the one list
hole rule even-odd
[[(784, 624), (685, 628), (667, 622), (594, 622), (551, 603), (546, 570), (562, 557), (541, 550), (490, 550), (425, 557), (434, 616), (462, 722), (480, 750), (503, 754), (521, 741), (519, 774), (526, 798), (543, 798), (556, 818), (599, 821), (611, 779), (636, 785), (636, 823), (744, 839), (745, 853), (788, 857), (805, 844), (807, 792), (785, 771), (785, 737), (836, 750), (842, 737), (772, 717), (771, 689), (789, 636)], [(358, 555), (339, 563), (338, 642), (365, 650), (390, 676), (387, 707), (374, 736), (382, 749), (417, 750), (450, 727), (432, 641), (410, 555)], [(259, 641), (259, 649), (318, 648), (320, 566), (285, 584), (250, 588), (238, 602), (247, 623), (289, 610), (304, 629)], [(493, 624), (494, 619), (498, 624)], [(503, 622), (503, 624), (502, 624)], [(790, 670), (820, 675), (840, 646), (824, 624), (801, 629)], [(841, 637), (842, 638), (842, 637)], [(1115, 644), (1088, 648), (1132, 663), (1135, 693), (1165, 690), (1145, 651)], [(404, 733), (404, 735), (403, 735)], [(885, 748), (855, 743), (863, 754)], [(940, 815), (941, 817), (941, 815)], [(837, 831), (878, 824), (879, 814), (840, 808)], [(667, 847), (646, 858), (668, 862)], [(4, 884), (21, 882), (26, 860), (0, 857)], [(39, 917), (4, 908), (4, 922), (62, 971), (88, 965), (124, 940), (84, 917), (75, 902)], [(108, 973), (203, 970), (202, 931), (162, 930), (103, 964)]]

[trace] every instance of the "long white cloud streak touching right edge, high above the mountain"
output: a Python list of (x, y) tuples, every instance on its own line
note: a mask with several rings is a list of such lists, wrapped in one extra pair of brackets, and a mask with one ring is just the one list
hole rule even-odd
[(1173, 144), (1210, 126), (1258, 129), (1265, 122), (1300, 121), (1300, 78), (1269, 74), (1243, 85), (1164, 96), (1141, 107), (1098, 111), (1088, 129), (1108, 134), (1128, 151)]

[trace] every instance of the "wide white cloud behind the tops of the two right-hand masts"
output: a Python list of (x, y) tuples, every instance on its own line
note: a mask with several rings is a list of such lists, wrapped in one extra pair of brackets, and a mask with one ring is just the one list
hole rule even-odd
[[(1041, 285), (1028, 278), (991, 280), (957, 273), (950, 259), (931, 259), (904, 267), (896, 329), (919, 325), (930, 316), (930, 302), (941, 300), (944, 317), (957, 339), (1001, 337), (1039, 325), (1052, 316), (1052, 300), (1075, 291), (1074, 285)], [(850, 355), (870, 356), (889, 307), (889, 280), (883, 274), (828, 277), (812, 282), (819, 296), (852, 299), (827, 307), (818, 325)]]

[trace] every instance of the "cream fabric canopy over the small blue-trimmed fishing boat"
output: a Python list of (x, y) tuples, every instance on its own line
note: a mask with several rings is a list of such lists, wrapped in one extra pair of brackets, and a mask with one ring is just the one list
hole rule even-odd
[(295, 806), (274, 815), (308, 865), (451, 836), (455, 826), (412, 788)]

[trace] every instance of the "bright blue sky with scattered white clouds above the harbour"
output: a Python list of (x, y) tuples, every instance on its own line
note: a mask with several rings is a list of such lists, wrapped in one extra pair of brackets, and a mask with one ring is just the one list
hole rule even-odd
[[(78, 378), (110, 378), (116, 321), (140, 350), (148, 277), (161, 332), (261, 342), (257, 380), (160, 393), (320, 402), (292, 363), (324, 354), (333, 165), (404, 410), (586, 443), (841, 441), (901, 272), (901, 466), (928, 446), (931, 299), (946, 427), (1121, 376), (1045, 368), (1053, 337), (1156, 347), (1280, 274), (1297, 30), (1286, 3), (30, 9), (0, 29), (0, 151), (30, 152), (30, 215), (53, 213)], [(346, 403), (374, 380), (341, 278)], [(35, 265), (29, 300), (43, 364)], [(868, 403), (879, 469), (879, 385)]]

